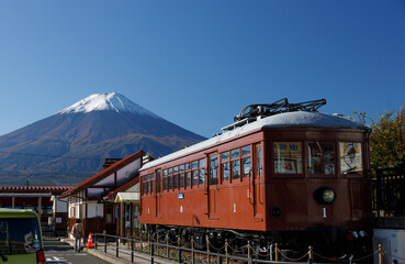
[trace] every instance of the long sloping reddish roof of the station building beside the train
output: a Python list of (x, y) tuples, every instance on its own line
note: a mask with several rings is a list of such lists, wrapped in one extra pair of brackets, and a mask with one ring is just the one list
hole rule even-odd
[(138, 152), (132, 154), (131, 156), (127, 156), (127, 157), (121, 160), (120, 162), (114, 163), (110, 167), (108, 167), (108, 168), (101, 170), (100, 173), (95, 174), (94, 176), (88, 178), (83, 183), (81, 183), (81, 184), (75, 186), (74, 188), (65, 191), (64, 194), (61, 194), (60, 197), (65, 198), (65, 197), (70, 196), (71, 194), (77, 194), (81, 190), (85, 190), (85, 189), (93, 186), (94, 184), (97, 184), (100, 180), (104, 179), (105, 177), (108, 177), (112, 173), (125, 167), (127, 164), (132, 163), (133, 161), (135, 161), (137, 158), (142, 158), (143, 155), (145, 155), (145, 152), (144, 151), (138, 151)]

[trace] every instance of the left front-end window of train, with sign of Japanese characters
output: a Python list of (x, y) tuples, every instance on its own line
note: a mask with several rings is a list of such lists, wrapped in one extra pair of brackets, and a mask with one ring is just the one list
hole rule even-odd
[(302, 174), (301, 142), (274, 142), (274, 174)]

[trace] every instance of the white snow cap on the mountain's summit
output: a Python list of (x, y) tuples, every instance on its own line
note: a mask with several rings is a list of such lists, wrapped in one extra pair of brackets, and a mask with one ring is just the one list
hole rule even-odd
[(94, 94), (91, 95), (75, 105), (59, 111), (58, 113), (78, 113), (78, 112), (92, 112), (92, 111), (115, 111), (115, 112), (132, 112), (143, 116), (151, 116), (159, 118), (155, 113), (146, 110), (145, 108), (136, 105), (126, 97), (116, 94)]

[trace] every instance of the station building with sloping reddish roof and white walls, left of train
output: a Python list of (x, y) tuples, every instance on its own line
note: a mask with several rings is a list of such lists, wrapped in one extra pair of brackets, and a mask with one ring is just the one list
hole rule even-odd
[(68, 199), (68, 230), (81, 219), (86, 238), (89, 233), (117, 234), (120, 206), (104, 197), (138, 176), (138, 170), (148, 156), (143, 152), (112, 163), (78, 186), (61, 194)]

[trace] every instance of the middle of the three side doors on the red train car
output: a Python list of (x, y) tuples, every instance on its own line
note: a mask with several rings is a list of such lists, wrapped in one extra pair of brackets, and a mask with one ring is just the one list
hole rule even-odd
[(218, 219), (218, 154), (209, 155), (209, 174), (207, 174), (207, 206), (209, 218)]

